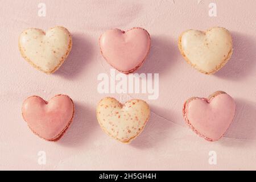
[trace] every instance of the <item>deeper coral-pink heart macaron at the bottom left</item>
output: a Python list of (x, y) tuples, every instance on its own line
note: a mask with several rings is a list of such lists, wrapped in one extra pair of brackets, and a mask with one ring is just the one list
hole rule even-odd
[(71, 98), (57, 95), (49, 102), (39, 96), (28, 97), (22, 105), (22, 115), (28, 127), (39, 137), (59, 140), (73, 120), (75, 106)]

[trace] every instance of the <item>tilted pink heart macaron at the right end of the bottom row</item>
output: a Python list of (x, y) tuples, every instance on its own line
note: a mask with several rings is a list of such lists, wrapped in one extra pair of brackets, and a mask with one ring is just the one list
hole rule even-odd
[(183, 106), (183, 117), (196, 134), (209, 141), (220, 139), (232, 123), (236, 104), (222, 91), (208, 98), (192, 97)]

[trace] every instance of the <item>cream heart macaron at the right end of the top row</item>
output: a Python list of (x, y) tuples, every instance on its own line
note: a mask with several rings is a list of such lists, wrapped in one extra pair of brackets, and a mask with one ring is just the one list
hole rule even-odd
[(206, 32), (187, 30), (179, 37), (179, 50), (184, 59), (205, 74), (221, 69), (232, 55), (232, 36), (222, 27)]

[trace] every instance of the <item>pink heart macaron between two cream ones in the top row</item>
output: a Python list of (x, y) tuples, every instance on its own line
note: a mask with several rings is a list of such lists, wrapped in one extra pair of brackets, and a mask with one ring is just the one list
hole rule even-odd
[(146, 60), (150, 50), (150, 35), (143, 28), (122, 31), (108, 30), (100, 37), (102, 56), (122, 73), (136, 71)]

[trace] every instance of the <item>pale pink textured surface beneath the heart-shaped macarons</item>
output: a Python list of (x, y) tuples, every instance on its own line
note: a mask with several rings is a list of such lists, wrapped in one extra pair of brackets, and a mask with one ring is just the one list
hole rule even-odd
[[(217, 1), (217, 17), (209, 17), (215, 1), (41, 1), (0, 0), (0, 169), (256, 169), (256, 1)], [(26, 28), (64, 26), (73, 35), (68, 60), (53, 75), (36, 71), (22, 59), (18, 36)], [(109, 73), (98, 38), (109, 28), (143, 27), (152, 38), (150, 56), (139, 73), (159, 73), (160, 96), (98, 94), (98, 73)], [(232, 32), (232, 59), (213, 76), (185, 63), (177, 37), (189, 28), (222, 26)], [(237, 112), (225, 137), (210, 143), (197, 137), (181, 115), (183, 102), (224, 90), (236, 100)], [(46, 142), (28, 129), (21, 115), (24, 99), (46, 100), (68, 94), (76, 105), (75, 119), (59, 142)], [(122, 144), (101, 131), (97, 102), (105, 96), (125, 101), (146, 100), (152, 109), (143, 133)], [(38, 164), (38, 151), (47, 164)], [(208, 152), (217, 165), (208, 164)]]

